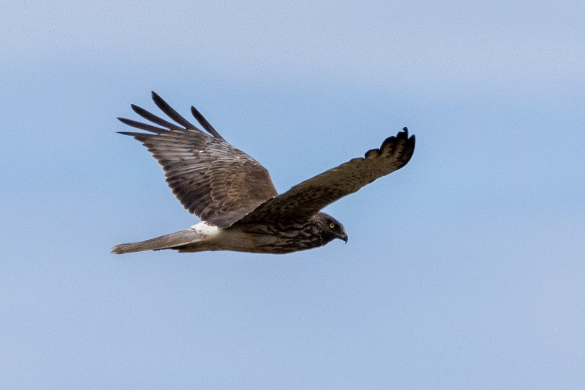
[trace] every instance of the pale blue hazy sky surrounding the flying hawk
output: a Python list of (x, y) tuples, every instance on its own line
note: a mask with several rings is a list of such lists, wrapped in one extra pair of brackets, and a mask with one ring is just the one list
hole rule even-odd
[[(9, 1), (0, 388), (585, 388), (585, 3), (512, 3)], [(417, 149), (345, 245), (115, 256), (197, 222), (115, 133), (151, 90), (280, 192)]]

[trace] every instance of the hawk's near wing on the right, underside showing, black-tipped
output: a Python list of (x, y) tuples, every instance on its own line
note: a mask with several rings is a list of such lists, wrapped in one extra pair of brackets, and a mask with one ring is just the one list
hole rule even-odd
[(404, 127), (397, 136), (384, 140), (380, 149), (371, 149), (365, 157), (353, 158), (295, 185), (284, 194), (264, 202), (242, 222), (308, 218), (329, 203), (404, 167), (412, 157), (414, 143), (414, 135), (408, 137), (408, 129)]

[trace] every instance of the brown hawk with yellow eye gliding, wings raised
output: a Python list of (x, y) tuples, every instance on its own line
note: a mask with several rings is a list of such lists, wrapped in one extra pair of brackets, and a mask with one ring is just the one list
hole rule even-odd
[(148, 148), (162, 165), (173, 193), (201, 222), (180, 232), (116, 245), (112, 253), (160, 249), (290, 253), (324, 246), (333, 239), (347, 242), (343, 225), (320, 210), (404, 167), (414, 152), (414, 135), (408, 137), (404, 127), (397, 136), (384, 140), (380, 149), (278, 195), (266, 168), (223, 139), (197, 109), (191, 106), (191, 113), (207, 133), (156, 93), (152, 92), (152, 98), (176, 123), (132, 105), (133, 111), (157, 126), (118, 118), (149, 132), (120, 133)]

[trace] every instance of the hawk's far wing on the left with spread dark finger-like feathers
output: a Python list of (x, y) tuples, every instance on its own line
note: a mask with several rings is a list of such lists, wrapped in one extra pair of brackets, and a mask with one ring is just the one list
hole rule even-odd
[(191, 112), (204, 133), (152, 92), (154, 103), (181, 126), (167, 122), (139, 106), (132, 109), (157, 127), (118, 118), (126, 125), (154, 134), (133, 136), (163, 166), (167, 183), (189, 212), (219, 227), (228, 227), (261, 203), (278, 195), (266, 168), (226, 142), (194, 107)]

